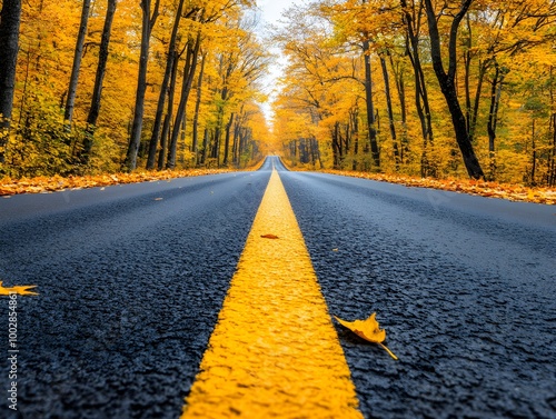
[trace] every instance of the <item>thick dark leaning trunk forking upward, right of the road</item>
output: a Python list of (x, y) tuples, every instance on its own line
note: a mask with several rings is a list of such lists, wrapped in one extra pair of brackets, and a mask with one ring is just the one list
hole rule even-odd
[(457, 31), (461, 19), (467, 13), (469, 6), (473, 0), (464, 0), (458, 13), (454, 17), (451, 22), (451, 28), (449, 31), (449, 44), (448, 44), (448, 71), (444, 69), (441, 50), (440, 50), (440, 34), (438, 32), (438, 24), (436, 21), (436, 13), (431, 0), (425, 0), (425, 8), (427, 12), (427, 22), (430, 37), (430, 57), (433, 60), (433, 67), (435, 69), (436, 78), (440, 84), (440, 90), (446, 99), (448, 110), (451, 116), (451, 123), (456, 133), (456, 141), (461, 151), (461, 157), (464, 158), (464, 163), (467, 169), (467, 173), (470, 178), (480, 179), (485, 177), (483, 169), (480, 168), (479, 161), (473, 149), (471, 139), (469, 138), (469, 130), (465, 119), (465, 114), (459, 106), (459, 100), (457, 97), (455, 77), (456, 77), (456, 46), (457, 46)]

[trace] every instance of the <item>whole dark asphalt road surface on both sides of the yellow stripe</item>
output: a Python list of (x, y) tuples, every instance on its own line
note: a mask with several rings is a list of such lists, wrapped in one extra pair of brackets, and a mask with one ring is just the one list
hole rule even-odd
[(330, 315), (376, 311), (399, 357), (335, 323), (366, 418), (556, 418), (555, 207), (277, 159), (1, 199), (0, 280), (40, 295), (18, 298), (18, 412), (0, 417), (178, 418), (272, 166)]

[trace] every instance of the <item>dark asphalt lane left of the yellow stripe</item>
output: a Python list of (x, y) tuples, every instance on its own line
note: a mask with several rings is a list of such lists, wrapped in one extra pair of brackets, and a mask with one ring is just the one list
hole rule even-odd
[(177, 418), (269, 176), (0, 201), (0, 279), (39, 292), (18, 299), (19, 411), (0, 417)]

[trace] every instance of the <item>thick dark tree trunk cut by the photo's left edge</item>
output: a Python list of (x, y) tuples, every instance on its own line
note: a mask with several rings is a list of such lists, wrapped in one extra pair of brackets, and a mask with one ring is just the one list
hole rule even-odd
[(0, 12), (0, 163), (11, 124), (19, 50), (21, 0), (3, 0)]

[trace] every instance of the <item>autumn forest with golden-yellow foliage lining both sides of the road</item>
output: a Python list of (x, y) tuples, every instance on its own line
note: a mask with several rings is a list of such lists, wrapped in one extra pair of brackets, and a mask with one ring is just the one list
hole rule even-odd
[(265, 27), (255, 0), (0, 0), (0, 177), (242, 169), (276, 152), (556, 184), (556, 1), (299, 4)]

